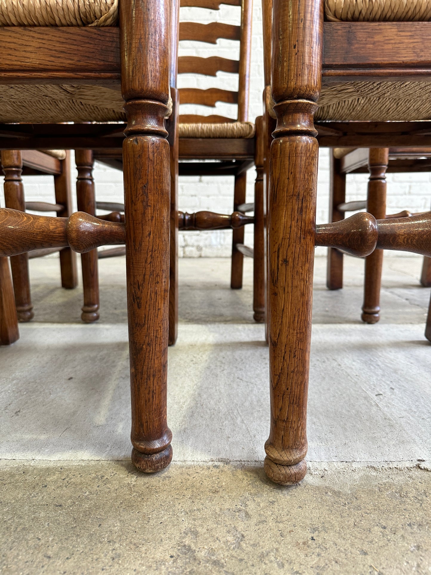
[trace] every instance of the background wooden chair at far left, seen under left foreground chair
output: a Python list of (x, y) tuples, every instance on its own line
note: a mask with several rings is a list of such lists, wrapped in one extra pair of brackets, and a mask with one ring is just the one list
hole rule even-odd
[[(3, 150), (1, 152), (2, 170), (5, 174), (5, 205), (25, 212), (56, 212), (60, 217), (72, 213), (70, 186), (70, 154), (64, 150)], [(21, 175), (53, 175), (55, 204), (47, 202), (26, 202)], [(29, 254), (14, 256), (10, 260), (18, 321), (30, 321), (33, 305), (30, 295), (28, 259), (39, 258), (48, 253), (60, 251), (61, 285), (72, 289), (78, 285), (76, 254), (70, 248), (57, 250), (36, 250)]]

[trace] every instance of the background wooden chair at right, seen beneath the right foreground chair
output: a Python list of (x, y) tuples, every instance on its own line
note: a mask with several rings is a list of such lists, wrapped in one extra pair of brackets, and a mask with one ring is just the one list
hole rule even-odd
[[(330, 159), (329, 221), (340, 221), (347, 212), (367, 209), (376, 218), (410, 216), (404, 210), (397, 214), (386, 214), (387, 173), (410, 173), (429, 171), (429, 148), (335, 148)], [(346, 175), (370, 173), (366, 201), (345, 201)], [(421, 284), (431, 286), (430, 259), (424, 258)], [(361, 319), (376, 323), (380, 319), (380, 282), (382, 276), (383, 252), (375, 250), (365, 258), (364, 304)], [(328, 250), (328, 289), (343, 287), (343, 253)], [(427, 335), (428, 338), (428, 335)], [(429, 338), (428, 338), (429, 339)]]

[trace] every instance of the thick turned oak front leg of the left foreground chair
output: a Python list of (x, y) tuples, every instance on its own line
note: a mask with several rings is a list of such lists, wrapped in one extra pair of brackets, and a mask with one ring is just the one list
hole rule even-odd
[[(167, 0), (120, 3), (126, 278), (132, 461), (152, 473), (172, 459), (167, 425), (170, 150)], [(142, 47), (145, 47), (143, 49)]]

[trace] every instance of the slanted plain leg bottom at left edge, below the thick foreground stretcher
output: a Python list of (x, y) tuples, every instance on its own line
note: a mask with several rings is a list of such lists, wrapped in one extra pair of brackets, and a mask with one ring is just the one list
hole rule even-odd
[(7, 258), (0, 258), (0, 346), (9, 346), (20, 338), (17, 308)]

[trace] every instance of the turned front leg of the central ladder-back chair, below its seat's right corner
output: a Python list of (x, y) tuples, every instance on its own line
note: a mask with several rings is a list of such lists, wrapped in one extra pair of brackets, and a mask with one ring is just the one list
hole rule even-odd
[(256, 182), (253, 248), (253, 312), (257, 323), (265, 321), (265, 229), (263, 197), (263, 118), (256, 118)]

